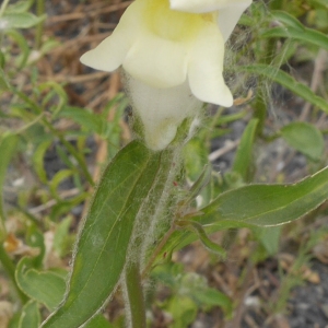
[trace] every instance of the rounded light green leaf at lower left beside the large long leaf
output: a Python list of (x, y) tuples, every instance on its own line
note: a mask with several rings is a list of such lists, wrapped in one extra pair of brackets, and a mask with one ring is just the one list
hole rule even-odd
[(15, 271), (17, 285), (31, 298), (54, 311), (63, 298), (66, 281), (56, 272), (35, 270), (32, 262), (27, 257), (20, 260)]

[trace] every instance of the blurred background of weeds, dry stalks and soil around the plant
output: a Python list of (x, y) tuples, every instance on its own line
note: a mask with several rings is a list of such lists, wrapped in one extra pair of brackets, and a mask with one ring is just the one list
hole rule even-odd
[[(60, 302), (78, 225), (103, 165), (131, 140), (118, 72), (79, 62), (129, 1), (0, 7), (0, 328), (38, 327)], [(208, 106), (185, 149), (198, 197), (295, 183), (328, 163), (328, 1), (254, 1), (226, 50), (232, 108)], [(226, 230), (159, 266), (150, 327), (327, 327), (328, 204), (286, 226)], [(106, 318), (106, 319), (105, 319)], [(91, 324), (92, 325), (92, 324)], [(119, 292), (90, 327), (124, 327)]]

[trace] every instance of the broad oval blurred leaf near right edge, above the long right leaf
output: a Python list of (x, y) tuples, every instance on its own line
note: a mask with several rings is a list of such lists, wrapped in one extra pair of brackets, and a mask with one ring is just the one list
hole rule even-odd
[(323, 133), (314, 125), (304, 121), (292, 122), (281, 129), (282, 138), (308, 159), (320, 161), (325, 140)]

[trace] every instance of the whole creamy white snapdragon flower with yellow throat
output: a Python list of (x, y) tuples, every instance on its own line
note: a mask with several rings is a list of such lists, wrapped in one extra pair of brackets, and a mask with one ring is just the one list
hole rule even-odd
[(133, 108), (153, 150), (164, 149), (202, 102), (232, 106), (224, 43), (251, 0), (136, 0), (113, 34), (81, 57), (94, 69), (122, 66)]

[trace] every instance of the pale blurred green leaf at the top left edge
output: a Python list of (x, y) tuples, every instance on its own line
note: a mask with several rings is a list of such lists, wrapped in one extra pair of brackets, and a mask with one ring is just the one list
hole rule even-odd
[(46, 19), (46, 15), (36, 16), (30, 12), (7, 13), (0, 17), (0, 31), (10, 28), (30, 28)]

